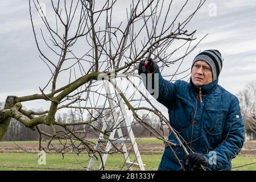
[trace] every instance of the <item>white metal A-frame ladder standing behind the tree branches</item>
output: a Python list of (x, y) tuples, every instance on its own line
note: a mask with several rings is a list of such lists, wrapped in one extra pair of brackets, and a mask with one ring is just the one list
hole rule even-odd
[[(114, 127), (113, 127), (114, 130), (110, 133), (109, 139), (113, 140), (112, 143), (121, 143), (123, 156), (125, 157), (125, 163), (128, 164), (127, 168), (129, 170), (133, 170), (132, 166), (135, 166), (135, 167), (139, 167), (139, 169), (141, 171), (144, 171), (145, 170), (144, 164), (142, 162), (141, 154), (139, 153), (139, 148), (137, 146), (137, 142), (135, 140), (133, 130), (131, 129), (131, 122), (129, 121), (129, 118), (127, 116), (127, 113), (125, 110), (125, 105), (123, 104), (123, 101), (122, 101), (122, 97), (119, 95), (119, 93), (116, 92), (119, 106), (121, 107), (121, 112), (122, 112), (122, 115), (123, 115), (123, 118), (125, 121), (125, 125), (126, 125), (125, 128), (127, 129), (129, 139), (123, 138), (121, 127), (118, 127), (118, 125), (120, 125), (121, 123), (118, 120), (117, 111), (114, 109), (113, 98), (112, 98), (112, 96), (110, 94), (110, 90), (109, 90), (109, 81), (104, 81), (104, 87), (106, 89), (106, 94), (108, 97), (109, 105), (110, 105), (110, 108), (112, 109), (112, 114), (113, 114), (113, 118), (114, 118)], [(102, 131), (106, 130), (106, 127), (107, 127), (107, 124), (106, 124), (106, 122), (104, 122), (104, 124), (102, 126)], [(116, 131), (117, 131), (118, 139), (114, 139), (114, 135), (115, 135)], [(106, 159), (108, 158), (108, 152), (110, 151), (110, 147), (112, 146), (112, 144), (109, 142), (109, 140), (104, 139), (103, 137), (104, 137), (104, 134), (101, 133), (100, 136), (98, 137), (95, 150), (97, 151), (100, 148), (101, 142), (106, 142), (106, 148), (105, 148), (104, 154), (102, 156), (102, 163), (105, 166)], [(133, 150), (134, 150), (134, 153), (136, 156), (137, 163), (130, 161), (129, 154), (128, 154), (125, 143), (131, 143), (131, 145), (133, 146)], [(96, 152), (94, 152), (92, 158), (90, 159), (87, 171), (92, 170), (95, 159), (96, 159)], [(102, 168), (102, 163), (100, 164), (99, 169)]]

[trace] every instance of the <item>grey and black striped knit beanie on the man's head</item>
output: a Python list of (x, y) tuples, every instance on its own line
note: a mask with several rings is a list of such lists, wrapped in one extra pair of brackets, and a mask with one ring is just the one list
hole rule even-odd
[(196, 61), (199, 60), (203, 60), (210, 65), (210, 68), (212, 68), (213, 81), (216, 80), (220, 75), (222, 68), (221, 53), (218, 50), (213, 49), (200, 52), (193, 60), (192, 67)]

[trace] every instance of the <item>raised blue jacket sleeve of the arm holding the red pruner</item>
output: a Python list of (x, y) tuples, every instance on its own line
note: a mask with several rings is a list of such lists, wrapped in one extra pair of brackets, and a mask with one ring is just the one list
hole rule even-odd
[[(142, 80), (148, 92), (158, 102), (160, 102), (167, 108), (171, 106), (170, 104), (174, 100), (174, 96), (176, 94), (176, 86), (172, 82), (164, 80), (160, 73), (158, 65), (156, 65), (156, 71), (154, 73), (147, 73), (146, 76), (142, 76)], [(149, 84), (149, 82), (151, 82), (151, 84)], [(153, 90), (151, 90), (151, 88), (153, 88)]]

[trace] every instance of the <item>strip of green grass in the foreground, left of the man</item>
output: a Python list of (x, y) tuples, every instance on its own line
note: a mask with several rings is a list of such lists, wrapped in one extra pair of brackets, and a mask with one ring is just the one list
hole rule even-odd
[[(38, 155), (27, 153), (1, 153), (0, 154), (0, 170), (61, 170), (61, 169), (84, 169), (82, 166), (88, 165), (88, 155), (73, 155), (65, 154), (64, 159), (61, 155), (46, 154), (46, 164), (38, 164)], [(143, 163), (146, 164), (147, 170), (156, 170), (160, 161), (161, 155), (142, 155)], [(131, 156), (130, 160), (135, 158)], [(124, 163), (123, 155), (109, 155), (106, 161), (106, 170), (120, 170)], [(78, 163), (81, 163), (78, 164)], [(99, 161), (96, 161), (95, 167), (99, 166)], [(134, 168), (136, 169), (136, 168)], [(124, 167), (122, 170), (126, 170)]]

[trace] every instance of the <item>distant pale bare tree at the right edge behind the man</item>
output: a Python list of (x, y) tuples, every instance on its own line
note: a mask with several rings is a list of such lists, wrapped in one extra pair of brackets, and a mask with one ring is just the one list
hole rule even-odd
[(249, 82), (238, 94), (245, 130), (256, 133), (256, 82)]

